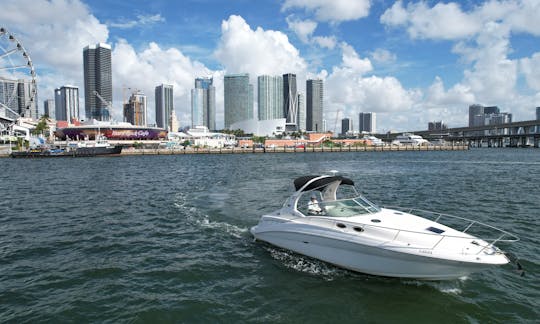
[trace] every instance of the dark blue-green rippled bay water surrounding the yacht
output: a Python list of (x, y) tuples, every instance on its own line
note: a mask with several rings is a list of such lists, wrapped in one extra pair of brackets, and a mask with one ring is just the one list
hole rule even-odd
[[(540, 150), (1, 159), (0, 322), (533, 323)], [(517, 234), (463, 280), (368, 276), (254, 242), (292, 180), (336, 169), (381, 205)]]

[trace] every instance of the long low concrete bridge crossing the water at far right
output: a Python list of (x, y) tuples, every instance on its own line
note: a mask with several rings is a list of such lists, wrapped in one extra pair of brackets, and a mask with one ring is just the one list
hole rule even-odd
[[(442, 138), (452, 143), (468, 143), (473, 147), (540, 147), (540, 120), (526, 120), (507, 124), (449, 128), (444, 131), (414, 131), (427, 140)], [(378, 134), (392, 141), (401, 133)]]

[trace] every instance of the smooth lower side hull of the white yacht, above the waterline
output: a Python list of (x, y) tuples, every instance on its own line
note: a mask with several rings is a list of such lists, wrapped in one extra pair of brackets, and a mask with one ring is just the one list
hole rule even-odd
[(260, 231), (257, 226), (251, 232), (256, 239), (272, 245), (345, 269), (378, 276), (450, 280), (494, 265), (414, 255), (387, 249), (382, 245), (340, 239), (336, 235), (329, 237), (292, 231)]

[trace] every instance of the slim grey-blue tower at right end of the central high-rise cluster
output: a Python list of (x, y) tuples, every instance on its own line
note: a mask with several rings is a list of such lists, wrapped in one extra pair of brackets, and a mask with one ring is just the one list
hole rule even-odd
[(324, 87), (320, 79), (306, 81), (306, 129), (313, 132), (323, 131)]

